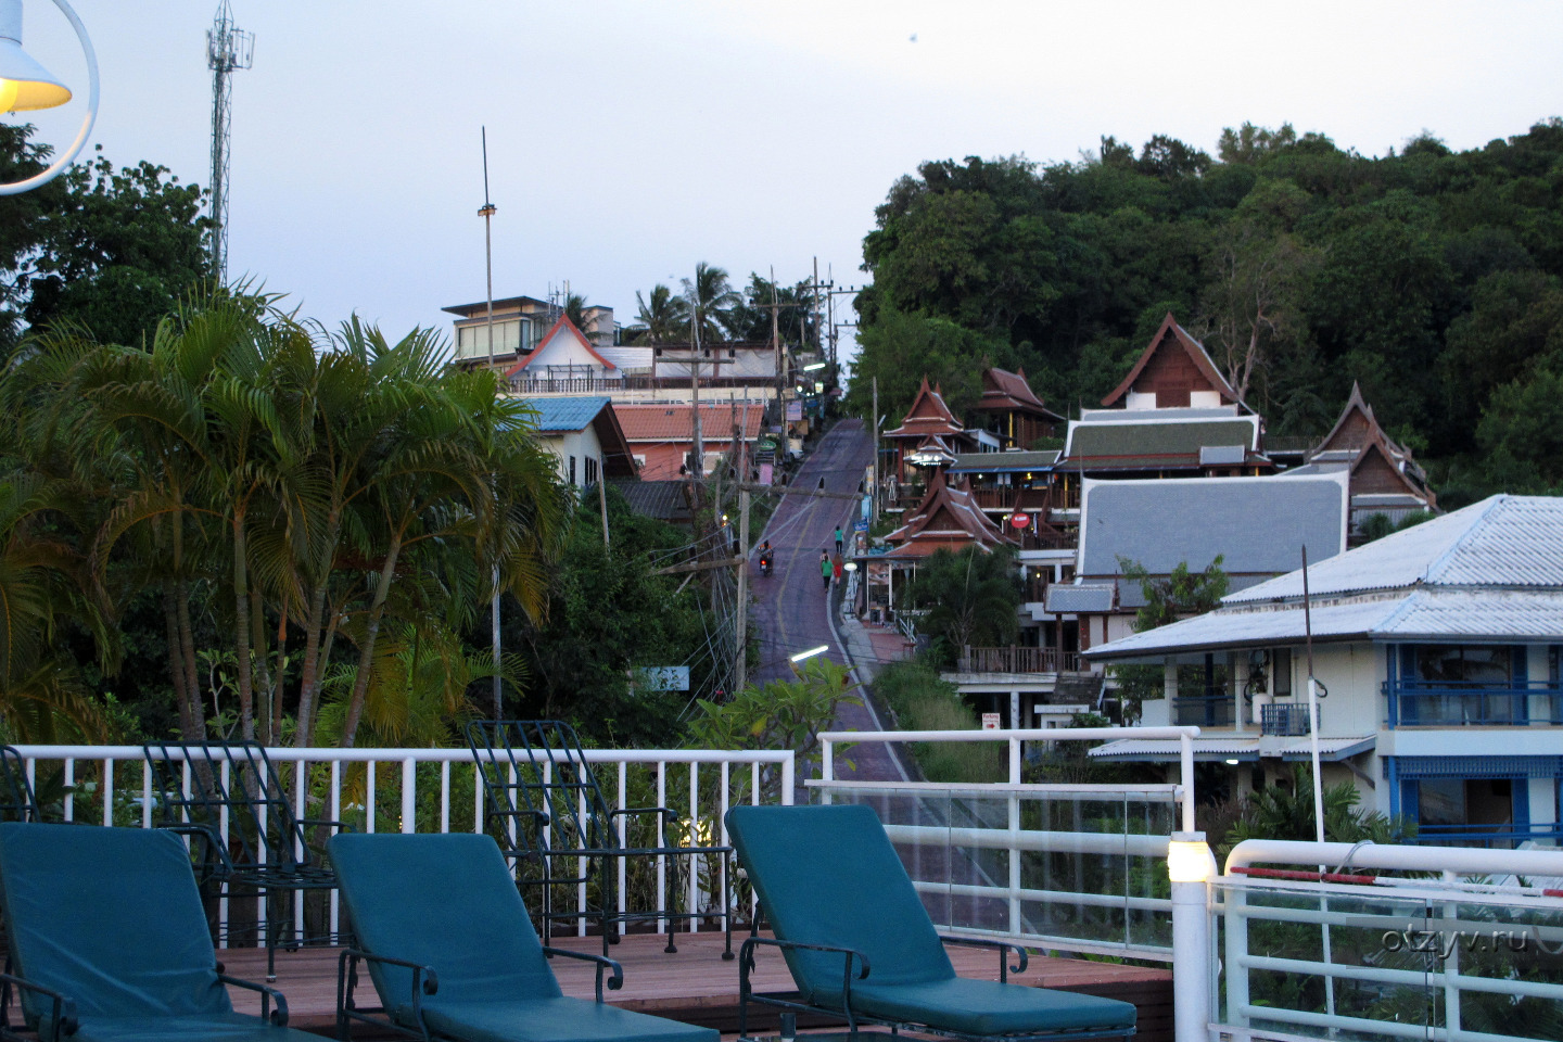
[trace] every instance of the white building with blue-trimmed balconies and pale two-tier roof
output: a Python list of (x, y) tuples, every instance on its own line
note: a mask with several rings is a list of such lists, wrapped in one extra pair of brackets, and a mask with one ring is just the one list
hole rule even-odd
[[(1427, 842), (1563, 837), (1563, 498), (1483, 500), (1310, 567), (1307, 598), (1297, 570), (1088, 658), (1161, 664), (1174, 720), (1211, 697), (1185, 698), (1179, 666), (1224, 664), (1230, 723), (1205, 728), (1196, 756), (1232, 765), (1241, 790), (1310, 758), (1307, 622), (1325, 783), (1352, 780)], [(1122, 740), (1093, 756), (1175, 750)]]

